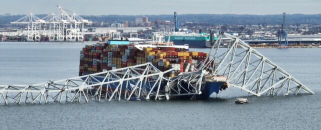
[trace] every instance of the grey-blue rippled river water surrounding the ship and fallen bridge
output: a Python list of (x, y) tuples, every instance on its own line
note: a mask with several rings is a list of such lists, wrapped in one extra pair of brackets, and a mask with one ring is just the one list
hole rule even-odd
[[(79, 50), (84, 44), (90, 43), (0, 42), (0, 84), (77, 76)], [(0, 129), (319, 129), (320, 50), (258, 49), (314, 91), (313, 95), (255, 97), (228, 88), (217, 95), (219, 98), (205, 101), (0, 105)], [(234, 104), (235, 97), (243, 96), (248, 104)]]

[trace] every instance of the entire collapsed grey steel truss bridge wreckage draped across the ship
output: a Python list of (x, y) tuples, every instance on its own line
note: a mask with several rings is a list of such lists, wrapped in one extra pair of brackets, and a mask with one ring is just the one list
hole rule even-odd
[[(227, 49), (220, 48), (223, 44), (227, 44)], [(201, 94), (200, 89), (207, 77), (215, 81), (218, 75), (226, 77), (227, 86), (239, 88), (250, 95), (313, 94), (308, 87), (244, 41), (223, 32), (219, 33), (198, 70), (163, 77), (164, 73), (174, 69), (160, 71), (147, 62), (32, 85), (0, 85), (0, 103), (71, 103), (90, 99), (100, 101), (101, 98), (109, 101), (169, 99), (172, 96)], [(181, 84), (187, 85), (188, 89)], [(160, 89), (161, 85), (164, 85), (163, 89)]]

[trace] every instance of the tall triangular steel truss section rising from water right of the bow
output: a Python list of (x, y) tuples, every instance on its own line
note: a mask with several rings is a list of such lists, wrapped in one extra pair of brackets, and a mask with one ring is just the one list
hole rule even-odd
[[(220, 46), (227, 46), (222, 48)], [(201, 69), (227, 77), (227, 85), (249, 94), (288, 95), (313, 92), (239, 38), (220, 32)]]

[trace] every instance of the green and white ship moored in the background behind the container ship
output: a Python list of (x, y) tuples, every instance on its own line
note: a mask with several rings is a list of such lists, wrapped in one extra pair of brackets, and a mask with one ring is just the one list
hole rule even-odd
[[(211, 39), (212, 37), (212, 39)], [(217, 39), (214, 34), (201, 33), (187, 33), (187, 32), (172, 32), (165, 35), (165, 40), (173, 41), (176, 45), (188, 44), (191, 48), (206, 48), (210, 47), (211, 43)]]

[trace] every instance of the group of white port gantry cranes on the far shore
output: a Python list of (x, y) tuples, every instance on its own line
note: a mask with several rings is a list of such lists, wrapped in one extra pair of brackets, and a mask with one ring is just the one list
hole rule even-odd
[[(75, 12), (57, 5), (59, 13), (51, 12), (43, 18), (29, 12), (12, 24), (27, 24), (26, 41), (83, 41), (84, 24), (91, 21), (82, 18)], [(70, 12), (67, 13), (66, 11)]]

